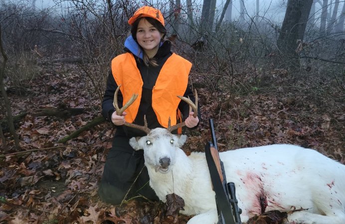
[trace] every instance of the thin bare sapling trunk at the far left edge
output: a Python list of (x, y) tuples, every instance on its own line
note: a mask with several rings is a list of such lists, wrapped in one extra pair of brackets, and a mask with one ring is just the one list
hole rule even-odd
[(3, 102), (4, 102), (4, 105), (5, 105), (6, 110), (7, 110), (8, 127), (9, 127), (9, 130), (10, 130), (12, 136), (13, 136), (15, 148), (16, 148), (16, 150), (19, 150), (20, 149), (19, 139), (18, 139), (17, 133), (15, 133), (15, 129), (14, 129), (12, 111), (11, 111), (11, 106), (10, 106), (11, 104), (8, 100), (5, 86), (3, 83), (3, 78), (5, 75), (5, 66), (6, 66), (6, 62), (8, 60), (8, 57), (7, 57), (7, 54), (5, 53), (5, 50), (3, 49), (3, 46), (2, 46), (1, 22), (0, 22), (0, 51), (1, 51), (1, 54), (3, 57), (2, 67), (0, 69), (0, 91), (2, 93)]

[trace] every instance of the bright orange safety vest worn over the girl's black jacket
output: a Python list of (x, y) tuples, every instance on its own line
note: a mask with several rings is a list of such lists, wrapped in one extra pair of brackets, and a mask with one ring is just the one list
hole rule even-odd
[[(172, 53), (158, 75), (156, 85), (152, 90), (152, 107), (158, 122), (163, 127), (168, 127), (169, 117), (171, 125), (177, 123), (176, 110), (180, 102), (177, 96), (183, 96), (187, 88), (191, 65), (188, 60)], [(111, 68), (116, 83), (121, 84), (120, 91), (124, 104), (133, 94), (138, 94), (138, 98), (125, 110), (126, 121), (133, 123), (138, 113), (143, 87), (143, 79), (133, 54), (118, 55), (112, 60)]]

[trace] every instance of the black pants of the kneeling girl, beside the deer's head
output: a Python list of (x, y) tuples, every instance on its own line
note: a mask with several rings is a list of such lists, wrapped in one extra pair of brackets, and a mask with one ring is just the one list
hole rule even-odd
[(106, 203), (119, 205), (129, 190), (126, 200), (142, 195), (151, 201), (159, 201), (149, 185), (149, 174), (144, 166), (143, 150), (134, 151), (129, 145), (128, 137), (115, 136), (104, 165), (98, 195)]

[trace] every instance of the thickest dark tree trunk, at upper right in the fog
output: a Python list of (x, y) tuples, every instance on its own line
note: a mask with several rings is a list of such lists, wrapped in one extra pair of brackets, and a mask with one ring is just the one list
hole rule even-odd
[(313, 0), (288, 0), (277, 45), (284, 56), (295, 57), (297, 40), (303, 41)]

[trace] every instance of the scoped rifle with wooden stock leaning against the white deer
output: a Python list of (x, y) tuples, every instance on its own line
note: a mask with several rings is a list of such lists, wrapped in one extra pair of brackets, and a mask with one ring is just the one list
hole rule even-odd
[(237, 205), (235, 184), (226, 182), (223, 162), (219, 159), (212, 119), (209, 119), (209, 124), (212, 141), (205, 145), (205, 155), (215, 192), (218, 212), (217, 224), (242, 224), (240, 218), (242, 210)]

